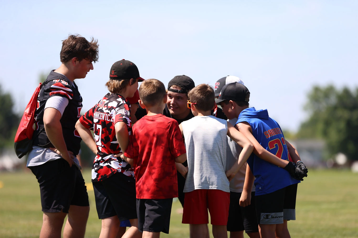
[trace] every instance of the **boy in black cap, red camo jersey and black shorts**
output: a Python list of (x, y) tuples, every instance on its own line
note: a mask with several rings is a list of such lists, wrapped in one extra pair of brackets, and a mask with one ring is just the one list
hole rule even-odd
[(120, 222), (126, 220), (131, 227), (122, 237), (141, 237), (137, 228), (134, 171), (117, 154), (125, 151), (131, 133), (130, 103), (126, 98), (133, 97), (138, 81), (142, 80), (134, 63), (115, 62), (106, 83), (110, 92), (76, 123), (82, 140), (96, 154), (92, 184), (98, 218), (102, 219), (100, 238), (117, 237), (122, 232)]

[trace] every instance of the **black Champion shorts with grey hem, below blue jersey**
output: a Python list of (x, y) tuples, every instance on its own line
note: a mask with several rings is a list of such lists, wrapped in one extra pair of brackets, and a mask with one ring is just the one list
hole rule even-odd
[(297, 183), (275, 192), (255, 196), (257, 223), (282, 224), (296, 220)]

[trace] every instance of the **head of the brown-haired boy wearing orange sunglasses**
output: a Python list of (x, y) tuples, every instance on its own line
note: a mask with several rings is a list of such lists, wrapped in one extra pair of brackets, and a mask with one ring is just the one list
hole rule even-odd
[(189, 91), (188, 96), (190, 102), (195, 103), (198, 111), (210, 111), (214, 107), (215, 93), (213, 88), (206, 83), (194, 87)]

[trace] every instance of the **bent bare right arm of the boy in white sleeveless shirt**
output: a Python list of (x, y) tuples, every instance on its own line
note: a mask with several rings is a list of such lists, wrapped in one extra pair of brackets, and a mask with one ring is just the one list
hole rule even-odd
[(248, 157), (251, 155), (253, 151), (253, 145), (241, 132), (236, 130), (231, 123), (227, 123), (227, 135), (232, 138), (239, 146), (242, 147), (242, 151), (237, 159), (237, 162), (233, 164), (233, 166), (226, 171), (226, 177), (231, 181), (235, 174), (239, 171), (241, 166), (247, 161)]

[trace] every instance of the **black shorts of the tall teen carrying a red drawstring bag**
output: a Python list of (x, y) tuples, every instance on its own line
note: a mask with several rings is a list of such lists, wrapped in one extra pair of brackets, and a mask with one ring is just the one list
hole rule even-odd
[(29, 166), (40, 185), (43, 212), (68, 213), (70, 205), (89, 206), (81, 171), (63, 158)]

